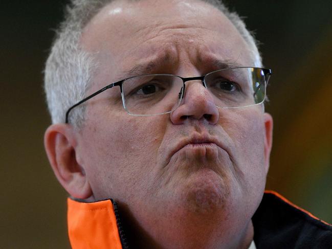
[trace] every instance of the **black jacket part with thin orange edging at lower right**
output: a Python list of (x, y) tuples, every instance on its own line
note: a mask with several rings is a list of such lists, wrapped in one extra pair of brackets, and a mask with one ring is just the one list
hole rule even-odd
[(257, 249), (332, 248), (332, 225), (273, 191), (265, 191), (252, 220)]

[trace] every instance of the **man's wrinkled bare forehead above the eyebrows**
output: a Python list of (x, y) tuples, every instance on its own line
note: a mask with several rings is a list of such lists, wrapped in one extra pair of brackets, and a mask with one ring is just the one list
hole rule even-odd
[(173, 65), (253, 63), (247, 43), (228, 18), (200, 1), (115, 1), (92, 18), (81, 41), (107, 69), (128, 70), (160, 58)]

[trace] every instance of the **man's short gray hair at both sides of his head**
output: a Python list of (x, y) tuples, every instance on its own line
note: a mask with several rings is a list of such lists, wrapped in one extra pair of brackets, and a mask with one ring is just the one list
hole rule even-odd
[[(71, 0), (66, 8), (64, 21), (56, 37), (45, 67), (45, 92), (52, 123), (63, 123), (65, 112), (82, 100), (92, 82), (97, 63), (91, 54), (80, 47), (83, 28), (104, 6), (114, 0)], [(223, 12), (240, 35), (248, 43), (254, 64), (262, 65), (254, 36), (247, 30), (244, 21), (235, 12), (230, 12), (218, 0), (202, 0)], [(80, 127), (84, 121), (84, 105), (75, 108), (70, 122)]]

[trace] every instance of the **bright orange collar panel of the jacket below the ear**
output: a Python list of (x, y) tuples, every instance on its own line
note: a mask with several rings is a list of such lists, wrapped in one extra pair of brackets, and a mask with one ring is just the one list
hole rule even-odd
[(68, 233), (73, 249), (122, 249), (113, 204), (68, 198)]

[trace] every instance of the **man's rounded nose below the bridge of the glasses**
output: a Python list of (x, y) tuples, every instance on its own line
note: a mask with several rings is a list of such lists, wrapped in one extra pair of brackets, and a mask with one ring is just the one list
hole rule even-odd
[(209, 124), (216, 124), (219, 119), (213, 96), (198, 80), (186, 83), (185, 95), (180, 106), (170, 114), (173, 124), (182, 124), (188, 118), (205, 119)]

